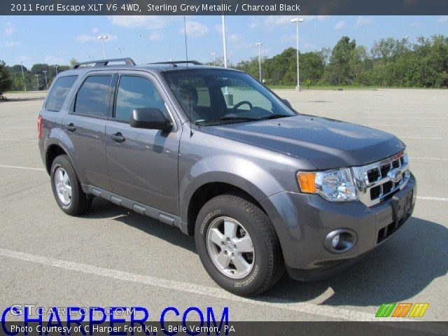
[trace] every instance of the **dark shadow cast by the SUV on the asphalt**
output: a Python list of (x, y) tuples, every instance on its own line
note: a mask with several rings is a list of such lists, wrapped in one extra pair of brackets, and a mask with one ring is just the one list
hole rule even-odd
[[(196, 252), (195, 239), (178, 228), (118, 207), (95, 197), (84, 218), (111, 218), (188, 251)], [(448, 271), (448, 229), (412, 217), (400, 232), (345, 271), (328, 279), (300, 282), (284, 274), (279, 283), (253, 300), (307, 302), (328, 292), (319, 302), (330, 306), (379, 306), (402, 302), (419, 294)], [(325, 294), (324, 296), (327, 296)]]

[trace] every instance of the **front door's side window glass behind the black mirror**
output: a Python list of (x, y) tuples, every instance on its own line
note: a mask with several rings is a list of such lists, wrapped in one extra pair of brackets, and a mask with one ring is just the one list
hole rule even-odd
[(137, 76), (121, 76), (115, 118), (129, 121), (132, 109), (139, 107), (155, 107), (166, 112), (165, 103), (151, 80)]

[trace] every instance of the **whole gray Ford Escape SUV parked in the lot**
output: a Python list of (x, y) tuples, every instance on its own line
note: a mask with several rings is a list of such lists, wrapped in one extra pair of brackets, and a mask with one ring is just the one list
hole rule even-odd
[(348, 267), (416, 200), (392, 134), (297, 113), (248, 74), (197, 62), (76, 64), (52, 83), (38, 138), (62, 211), (102, 197), (176, 226), (237, 295), (285, 269), (308, 281)]

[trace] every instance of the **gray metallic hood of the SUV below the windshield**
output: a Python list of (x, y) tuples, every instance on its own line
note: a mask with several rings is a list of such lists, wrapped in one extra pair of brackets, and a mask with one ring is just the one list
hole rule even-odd
[(405, 149), (392, 134), (316, 116), (207, 126), (202, 130), (308, 160), (317, 169), (366, 165)]

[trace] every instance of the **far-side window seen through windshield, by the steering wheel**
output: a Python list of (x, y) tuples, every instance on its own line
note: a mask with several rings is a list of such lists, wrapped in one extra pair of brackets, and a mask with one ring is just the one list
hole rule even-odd
[[(272, 111), (272, 104), (265, 96), (255, 90), (253, 87), (247, 85), (242, 80), (232, 78), (230, 79), (229, 87), (221, 87), (221, 92), (225, 99), (225, 104), (228, 109), (232, 109), (239, 102), (250, 102), (253, 107), (259, 107), (267, 111)], [(241, 104), (238, 110), (250, 110), (248, 104)]]

